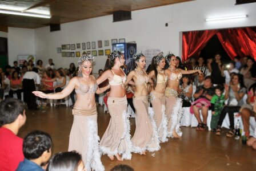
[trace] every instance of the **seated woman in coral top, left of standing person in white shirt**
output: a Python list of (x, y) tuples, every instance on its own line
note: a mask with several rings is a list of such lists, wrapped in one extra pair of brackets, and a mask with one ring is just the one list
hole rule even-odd
[(21, 93), (23, 92), (22, 89), (22, 78), (19, 77), (18, 72), (14, 71), (11, 78), (11, 88), (9, 91), (9, 96), (13, 97), (13, 94), (16, 93), (18, 99), (21, 100)]

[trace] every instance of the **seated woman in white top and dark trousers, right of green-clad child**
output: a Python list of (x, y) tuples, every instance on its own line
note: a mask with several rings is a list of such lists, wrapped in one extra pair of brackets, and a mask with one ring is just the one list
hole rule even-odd
[(218, 125), (216, 128), (216, 135), (221, 135), (221, 125), (225, 119), (226, 113), (229, 114), (230, 131), (226, 133), (227, 137), (234, 136), (234, 113), (239, 112), (243, 105), (243, 96), (246, 93), (246, 88), (243, 84), (243, 76), (241, 74), (234, 74), (231, 77), (230, 84), (225, 84), (225, 100), (227, 105), (222, 109), (221, 116), (219, 116)]

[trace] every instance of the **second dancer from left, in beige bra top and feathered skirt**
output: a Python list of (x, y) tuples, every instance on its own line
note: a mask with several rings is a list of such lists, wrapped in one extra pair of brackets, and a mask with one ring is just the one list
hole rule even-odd
[[(110, 92), (107, 107), (111, 116), (109, 126), (99, 145), (102, 153), (107, 154), (111, 160), (114, 160), (114, 155), (117, 160), (130, 160), (132, 144), (125, 89), (127, 76), (120, 68), (125, 63), (125, 56), (119, 51), (113, 51), (109, 57), (111, 70), (103, 72), (97, 79), (98, 84), (106, 79), (109, 80)], [(123, 154), (122, 157), (119, 154)]]

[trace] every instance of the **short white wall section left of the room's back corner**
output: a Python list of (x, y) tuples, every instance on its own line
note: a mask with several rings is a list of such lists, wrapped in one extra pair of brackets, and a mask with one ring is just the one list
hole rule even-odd
[(9, 27), (7, 39), (11, 66), (18, 55), (35, 55), (34, 29)]

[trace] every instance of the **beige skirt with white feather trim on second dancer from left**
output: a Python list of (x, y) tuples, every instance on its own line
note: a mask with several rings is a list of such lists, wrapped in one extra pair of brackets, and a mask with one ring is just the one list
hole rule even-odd
[(104, 133), (100, 144), (103, 154), (109, 156), (123, 154), (122, 159), (131, 159), (130, 121), (127, 113), (127, 99), (125, 97), (109, 97), (107, 99), (109, 126)]

